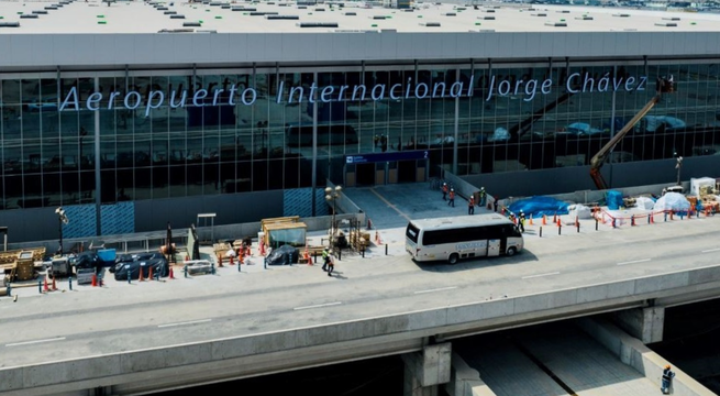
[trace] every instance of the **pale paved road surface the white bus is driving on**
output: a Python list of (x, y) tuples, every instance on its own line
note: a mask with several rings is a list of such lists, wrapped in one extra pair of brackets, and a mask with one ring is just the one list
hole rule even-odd
[[(0, 299), (0, 367), (394, 315), (717, 265), (720, 217), (529, 238), (514, 257), (417, 264), (400, 251), (319, 265)], [(402, 229), (392, 231), (402, 234)], [(400, 238), (397, 238), (400, 239)], [(400, 242), (401, 243), (401, 242)], [(248, 271), (250, 270), (250, 271)], [(179, 275), (179, 274), (178, 274)]]

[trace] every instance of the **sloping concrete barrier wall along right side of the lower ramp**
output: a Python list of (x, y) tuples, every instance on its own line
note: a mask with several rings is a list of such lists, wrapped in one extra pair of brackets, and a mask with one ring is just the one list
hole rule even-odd
[[(647, 380), (660, 387), (663, 369), (671, 364), (663, 356), (645, 346), (638, 340), (603, 319), (579, 318), (576, 323), (596, 341), (614, 353), (622, 363), (635, 369)], [(671, 394), (676, 396), (715, 396), (716, 394), (702, 386), (679, 367), (673, 367), (675, 378)]]

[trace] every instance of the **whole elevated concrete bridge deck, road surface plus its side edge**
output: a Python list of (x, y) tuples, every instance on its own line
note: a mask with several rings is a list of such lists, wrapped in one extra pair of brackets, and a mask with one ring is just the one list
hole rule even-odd
[[(717, 297), (717, 218), (529, 238), (514, 257), (416, 264), (402, 254), (223, 268), (2, 299), (0, 394), (118, 394), (418, 351), (507, 327)], [(179, 275), (179, 274), (178, 274)], [(30, 293), (30, 292), (23, 292)], [(193, 374), (195, 373), (195, 374)], [(160, 378), (160, 380), (158, 380)]]

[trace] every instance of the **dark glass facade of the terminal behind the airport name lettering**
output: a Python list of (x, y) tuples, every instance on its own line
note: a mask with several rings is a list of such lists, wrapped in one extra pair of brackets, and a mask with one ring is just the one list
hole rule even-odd
[(711, 155), (720, 153), (719, 68), (571, 59), (8, 74), (0, 199), (20, 209), (302, 188), (312, 186), (313, 157), (319, 186), (346, 172), (373, 184), (363, 177), (373, 165), (345, 155), (414, 150), (428, 152), (431, 169), (461, 176), (581, 166), (663, 76), (676, 91), (609, 161)]

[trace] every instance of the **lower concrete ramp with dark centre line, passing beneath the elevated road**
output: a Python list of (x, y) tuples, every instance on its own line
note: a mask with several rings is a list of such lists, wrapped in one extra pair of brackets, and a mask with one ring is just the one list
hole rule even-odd
[(498, 396), (657, 395), (653, 384), (566, 323), (478, 336), (454, 348)]

